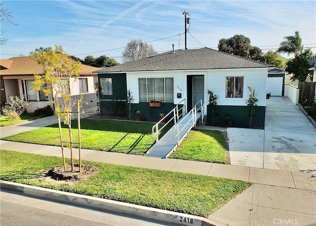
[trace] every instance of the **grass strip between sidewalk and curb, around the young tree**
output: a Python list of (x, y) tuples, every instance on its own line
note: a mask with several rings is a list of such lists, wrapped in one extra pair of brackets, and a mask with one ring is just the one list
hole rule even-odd
[(95, 176), (74, 185), (56, 185), (34, 178), (62, 164), (61, 158), (5, 150), (1, 150), (0, 154), (1, 180), (202, 217), (209, 216), (250, 185), (231, 179), (90, 161), (82, 163), (96, 166), (99, 171)]

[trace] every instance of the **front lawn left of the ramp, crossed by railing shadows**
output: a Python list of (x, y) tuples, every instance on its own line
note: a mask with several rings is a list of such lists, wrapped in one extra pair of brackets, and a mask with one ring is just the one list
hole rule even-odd
[[(72, 122), (73, 142), (78, 143), (77, 121)], [(145, 155), (156, 142), (153, 123), (81, 119), (81, 148)], [(69, 141), (67, 125), (62, 125), (63, 141)], [(164, 134), (170, 127), (161, 131)], [(4, 140), (60, 146), (58, 125), (51, 125), (2, 138)], [(78, 147), (78, 144), (74, 144)]]

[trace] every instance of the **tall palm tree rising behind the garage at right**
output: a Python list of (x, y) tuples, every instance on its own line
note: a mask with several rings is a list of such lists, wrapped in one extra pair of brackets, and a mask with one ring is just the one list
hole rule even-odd
[(299, 32), (295, 32), (294, 36), (285, 36), (285, 41), (280, 43), (280, 47), (276, 50), (278, 53), (287, 53), (287, 55), (294, 54), (294, 57), (303, 52), (302, 38)]

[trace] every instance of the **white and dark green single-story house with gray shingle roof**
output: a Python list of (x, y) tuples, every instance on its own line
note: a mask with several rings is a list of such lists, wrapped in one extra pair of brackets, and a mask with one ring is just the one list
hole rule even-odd
[[(140, 110), (143, 120), (157, 121), (176, 104), (185, 103), (187, 112), (201, 99), (208, 104), (207, 91), (218, 96), (214, 125), (247, 127), (249, 97), (247, 87), (258, 94), (254, 127), (265, 122), (268, 69), (271, 65), (247, 60), (210, 48), (177, 50), (138, 61), (96, 71), (102, 87), (101, 114), (115, 102), (126, 100), (127, 90), (133, 96), (132, 112)], [(160, 107), (151, 107), (151, 100), (160, 100)], [(207, 124), (211, 114), (207, 110)], [(117, 104), (118, 106), (118, 104)], [(205, 111), (206, 112), (206, 111)]]

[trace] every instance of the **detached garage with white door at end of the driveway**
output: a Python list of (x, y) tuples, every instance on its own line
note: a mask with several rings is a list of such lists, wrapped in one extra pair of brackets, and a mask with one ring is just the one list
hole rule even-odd
[(286, 73), (285, 70), (278, 68), (268, 70), (267, 93), (271, 93), (271, 96), (284, 96)]

